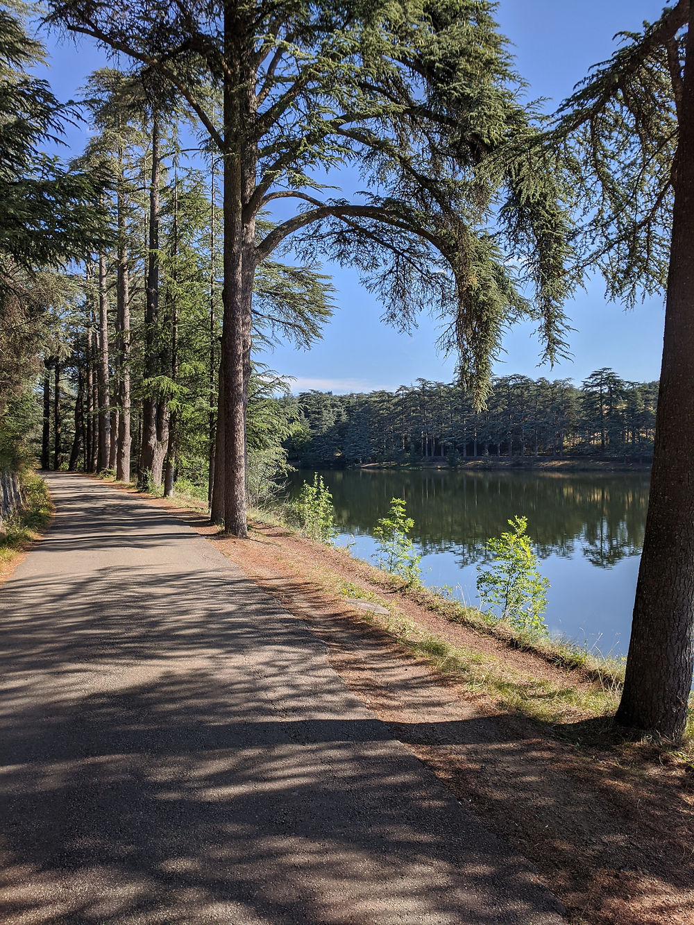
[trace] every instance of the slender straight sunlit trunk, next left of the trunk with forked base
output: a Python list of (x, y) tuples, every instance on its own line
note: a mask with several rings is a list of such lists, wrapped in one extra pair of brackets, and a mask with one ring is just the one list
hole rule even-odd
[[(119, 152), (122, 171), (123, 155)], [(118, 179), (118, 440), (116, 477), (130, 482), (130, 267), (122, 176)]]

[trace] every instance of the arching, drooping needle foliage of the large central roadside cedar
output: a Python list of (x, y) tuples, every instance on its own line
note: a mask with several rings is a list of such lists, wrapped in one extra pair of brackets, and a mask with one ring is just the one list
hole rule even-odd
[[(431, 312), (480, 403), (514, 321), (538, 322), (547, 360), (564, 354), (574, 285), (564, 191), (543, 154), (511, 145), (540, 126), (494, 6), (54, 0), (48, 19), (171, 83), (249, 184), (242, 224), (284, 201), (289, 217), (247, 236), (251, 263), (291, 246), (355, 266), (396, 327)], [(210, 85), (236, 88), (233, 125)], [(330, 194), (347, 166), (363, 189)]]

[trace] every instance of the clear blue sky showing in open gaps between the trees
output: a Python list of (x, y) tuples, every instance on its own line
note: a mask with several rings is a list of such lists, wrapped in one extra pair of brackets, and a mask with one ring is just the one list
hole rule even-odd
[[(617, 31), (638, 30), (643, 19), (656, 19), (661, 0), (501, 0), (498, 19), (514, 46), (517, 69), (529, 84), (532, 98), (547, 97), (551, 110), (572, 91), (591, 65), (612, 54)], [(45, 40), (45, 37), (44, 37)], [(78, 87), (105, 56), (90, 43), (47, 40), (48, 77), (58, 97), (77, 94)], [(82, 129), (70, 129), (68, 142), (78, 153)], [(324, 337), (311, 351), (280, 346), (262, 359), (280, 373), (293, 376), (293, 390), (326, 388), (334, 391), (397, 388), (418, 377), (450, 381), (454, 358), (435, 349), (439, 331), (422, 316), (412, 336), (381, 323), (378, 302), (360, 285), (356, 273), (327, 266), (337, 290), (336, 313)], [(663, 302), (651, 299), (626, 312), (619, 303), (606, 302), (601, 280), (589, 280), (567, 305), (572, 327), (573, 361), (551, 370), (538, 367), (539, 343), (533, 325), (514, 328), (504, 340), (505, 353), (495, 373), (503, 376), (570, 377), (580, 381), (601, 366), (612, 366), (626, 379), (659, 376), (663, 345)]]

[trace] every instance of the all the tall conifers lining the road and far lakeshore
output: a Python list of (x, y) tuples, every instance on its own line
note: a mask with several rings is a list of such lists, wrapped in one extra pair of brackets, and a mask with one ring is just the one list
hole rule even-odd
[[(254, 478), (284, 448), (305, 462), (652, 451), (618, 719), (677, 738), (694, 663), (689, 4), (621, 35), (551, 117), (494, 9), (52, 0), (30, 23), (4, 7), (0, 468), (40, 434), (43, 464), (166, 494), (192, 476), (243, 539)], [(118, 68), (58, 101), (36, 76), (37, 26), (90, 36)], [(63, 161), (81, 120), (85, 149)], [(394, 327), (430, 313), (457, 384), (278, 401), (254, 345), (315, 341), (326, 261), (355, 268)], [(537, 325), (540, 360), (568, 354), (565, 306), (589, 272), (626, 306), (665, 295), (655, 431), (654, 384), (494, 379), (515, 322)]]

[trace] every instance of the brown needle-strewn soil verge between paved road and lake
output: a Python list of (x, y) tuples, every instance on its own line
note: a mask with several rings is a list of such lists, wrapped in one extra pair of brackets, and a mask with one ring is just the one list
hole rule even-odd
[[(488, 828), (537, 866), (570, 922), (694, 923), (690, 764), (648, 744), (614, 744), (602, 734), (604, 720), (532, 722), (504, 711), (482, 686), (441, 676), (341, 597), (341, 582), (386, 597), (365, 563), (279, 527), (259, 524), (249, 540), (239, 540), (219, 536), (200, 514), (178, 513), (326, 641), (345, 683)], [(388, 597), (432, 632), (501, 657), (514, 672), (589, 684), (403, 595)]]

